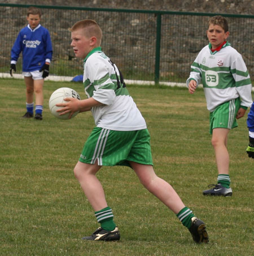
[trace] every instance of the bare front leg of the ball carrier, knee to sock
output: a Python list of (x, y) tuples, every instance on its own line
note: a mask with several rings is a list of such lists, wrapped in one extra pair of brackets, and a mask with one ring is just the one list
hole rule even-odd
[(86, 198), (90, 202), (94, 211), (106, 208), (107, 202), (102, 184), (95, 176), (101, 166), (78, 161), (74, 168), (74, 174), (79, 181)]

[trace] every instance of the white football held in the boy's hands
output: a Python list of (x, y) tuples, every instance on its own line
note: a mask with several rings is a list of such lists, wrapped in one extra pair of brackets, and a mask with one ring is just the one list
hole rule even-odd
[[(80, 99), (79, 94), (76, 92), (76, 90), (73, 90), (71, 88), (67, 88), (67, 87), (63, 87), (63, 88), (59, 88), (57, 90), (55, 90), (54, 93), (51, 94), (50, 99), (49, 99), (49, 109), (50, 112), (59, 119), (68, 119), (69, 118), (69, 113), (64, 114), (64, 115), (59, 115), (60, 112), (56, 112), (56, 110), (62, 109), (63, 107), (58, 107), (55, 106), (58, 103), (64, 103), (67, 101), (64, 101), (64, 98), (76, 98), (76, 99)], [(75, 112), (72, 115), (72, 118), (74, 118), (74, 116), (76, 116), (78, 114), (79, 111)]]

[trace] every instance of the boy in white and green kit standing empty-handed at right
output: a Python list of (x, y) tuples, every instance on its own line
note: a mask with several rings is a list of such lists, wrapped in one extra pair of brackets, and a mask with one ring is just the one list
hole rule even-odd
[(217, 184), (204, 190), (204, 195), (231, 196), (227, 135), (237, 127), (251, 106), (251, 80), (242, 56), (226, 41), (229, 36), (227, 20), (214, 16), (209, 20), (205, 46), (191, 65), (186, 83), (193, 94), (203, 84), (207, 109), (210, 111), (210, 133), (218, 168)]

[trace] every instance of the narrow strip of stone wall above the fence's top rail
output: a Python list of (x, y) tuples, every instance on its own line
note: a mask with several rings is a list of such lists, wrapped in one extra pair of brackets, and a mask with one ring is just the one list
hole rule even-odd
[(254, 14), (253, 0), (1, 0), (0, 3), (182, 12), (211, 12), (221, 14)]

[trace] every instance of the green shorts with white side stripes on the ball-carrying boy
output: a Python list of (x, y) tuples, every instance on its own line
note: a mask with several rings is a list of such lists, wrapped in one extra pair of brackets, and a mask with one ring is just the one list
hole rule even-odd
[(111, 131), (95, 127), (85, 142), (80, 162), (99, 166), (129, 166), (128, 161), (152, 163), (150, 134), (138, 131)]

